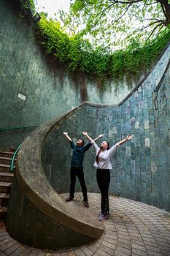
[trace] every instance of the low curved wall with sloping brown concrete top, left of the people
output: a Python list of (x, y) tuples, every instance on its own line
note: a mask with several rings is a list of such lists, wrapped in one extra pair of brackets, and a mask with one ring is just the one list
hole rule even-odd
[(20, 148), (6, 227), (23, 244), (48, 249), (79, 246), (99, 238), (104, 231), (102, 223), (85, 218), (85, 213), (75, 211), (58, 196), (41, 163), (45, 136), (80, 108), (37, 128)]

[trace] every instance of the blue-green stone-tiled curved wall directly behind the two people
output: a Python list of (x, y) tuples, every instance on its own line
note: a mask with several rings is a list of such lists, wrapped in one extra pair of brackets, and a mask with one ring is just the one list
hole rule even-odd
[[(169, 56), (169, 49), (166, 54)], [(121, 105), (86, 105), (47, 137), (42, 162), (58, 193), (69, 192), (70, 184), (72, 150), (63, 131), (68, 131), (74, 141), (82, 137), (83, 130), (92, 138), (104, 133), (111, 145), (124, 135), (133, 134), (134, 139), (123, 144), (112, 159), (109, 192), (170, 210), (170, 68), (168, 64), (161, 80), (155, 78), (156, 68)], [(94, 159), (90, 148), (84, 161), (89, 192), (98, 192)], [(77, 191), (81, 191), (78, 182)]]

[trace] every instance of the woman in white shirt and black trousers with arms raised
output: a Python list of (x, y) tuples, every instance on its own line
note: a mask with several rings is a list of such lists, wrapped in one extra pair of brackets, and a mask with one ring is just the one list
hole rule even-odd
[(94, 166), (97, 167), (96, 178), (98, 187), (101, 191), (101, 212), (99, 213), (98, 220), (100, 222), (103, 222), (105, 219), (107, 219), (109, 214), (109, 169), (112, 169), (110, 158), (120, 145), (125, 143), (127, 140), (131, 140), (133, 137), (131, 135), (128, 135), (124, 140), (120, 140), (111, 148), (109, 148), (109, 143), (106, 140), (104, 140), (101, 143), (101, 147), (99, 148), (95, 141), (92, 138), (90, 138), (88, 132), (82, 132), (82, 134), (85, 135), (88, 138), (88, 140), (90, 140), (90, 142), (96, 149), (96, 161), (94, 163)]

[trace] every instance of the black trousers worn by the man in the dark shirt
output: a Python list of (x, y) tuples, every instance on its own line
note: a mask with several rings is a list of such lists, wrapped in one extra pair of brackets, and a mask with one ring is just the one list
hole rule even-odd
[(71, 170), (70, 170), (71, 184), (70, 184), (70, 193), (69, 193), (69, 195), (71, 197), (74, 197), (76, 176), (79, 178), (80, 185), (82, 187), (82, 195), (84, 197), (84, 202), (88, 201), (87, 188), (85, 186), (85, 179), (84, 179), (84, 173), (83, 173), (83, 167), (82, 166), (80, 166), (80, 167), (71, 166)]

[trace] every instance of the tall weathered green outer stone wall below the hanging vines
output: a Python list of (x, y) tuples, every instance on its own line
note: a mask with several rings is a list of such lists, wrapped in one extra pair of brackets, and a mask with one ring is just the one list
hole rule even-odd
[[(80, 105), (82, 101), (95, 104), (120, 103), (144, 77), (127, 82), (107, 81), (106, 90), (98, 89), (95, 80), (69, 74), (45, 56), (36, 40), (34, 20), (28, 20), (15, 7), (17, 0), (0, 1), (0, 144), (1, 148), (18, 147), (33, 130), (2, 128), (30, 127)], [(164, 58), (159, 65), (161, 75), (166, 67)], [(158, 75), (158, 76), (159, 76)], [(85, 91), (84, 98), (81, 91)]]

